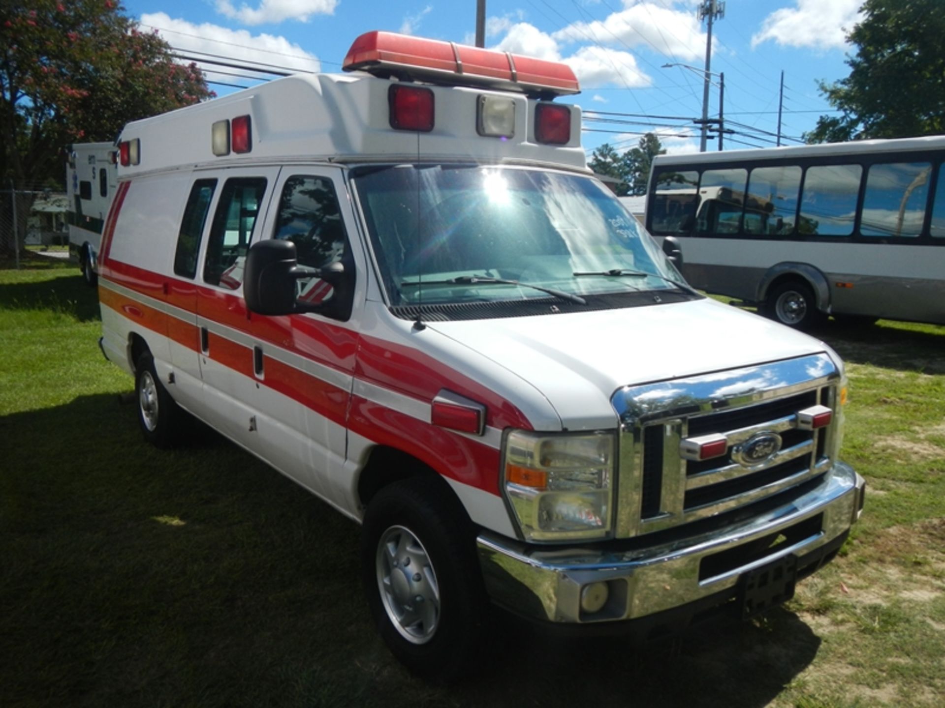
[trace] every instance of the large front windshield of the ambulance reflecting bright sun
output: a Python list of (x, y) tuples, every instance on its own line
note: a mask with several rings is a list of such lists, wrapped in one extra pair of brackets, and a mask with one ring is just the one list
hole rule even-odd
[(391, 305), (549, 296), (534, 286), (584, 297), (679, 287), (636, 219), (590, 177), (398, 165), (352, 180)]

